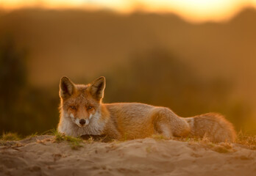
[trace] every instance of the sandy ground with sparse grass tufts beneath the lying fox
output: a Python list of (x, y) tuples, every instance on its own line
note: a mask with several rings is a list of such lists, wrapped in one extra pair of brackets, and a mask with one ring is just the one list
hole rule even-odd
[(83, 142), (54, 136), (0, 146), (0, 175), (256, 175), (256, 150), (175, 140)]

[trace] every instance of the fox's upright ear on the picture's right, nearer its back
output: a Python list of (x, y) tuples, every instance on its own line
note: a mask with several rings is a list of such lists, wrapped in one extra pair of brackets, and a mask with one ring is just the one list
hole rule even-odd
[(104, 76), (101, 76), (93, 81), (93, 83), (90, 85), (90, 93), (93, 95), (93, 98), (96, 100), (101, 100), (104, 97), (105, 85), (106, 81)]

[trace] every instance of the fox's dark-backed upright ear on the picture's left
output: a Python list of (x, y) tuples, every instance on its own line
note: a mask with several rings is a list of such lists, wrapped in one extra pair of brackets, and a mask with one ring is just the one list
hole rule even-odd
[(74, 83), (68, 78), (63, 76), (60, 79), (60, 98), (68, 98), (74, 93)]

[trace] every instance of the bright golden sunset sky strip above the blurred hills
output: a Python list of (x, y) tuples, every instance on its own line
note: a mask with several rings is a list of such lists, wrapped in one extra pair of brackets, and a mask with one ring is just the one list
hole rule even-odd
[(256, 0), (0, 0), (0, 8), (113, 10), (173, 12), (187, 21), (225, 21), (245, 7), (256, 8)]

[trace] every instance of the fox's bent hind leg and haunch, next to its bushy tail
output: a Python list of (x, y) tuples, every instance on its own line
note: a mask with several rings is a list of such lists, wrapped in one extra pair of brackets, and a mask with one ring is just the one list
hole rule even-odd
[(182, 120), (171, 109), (157, 107), (152, 109), (154, 129), (164, 137), (187, 136), (190, 133), (188, 122)]

